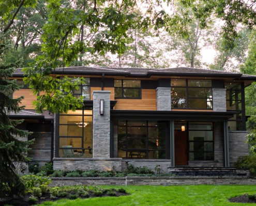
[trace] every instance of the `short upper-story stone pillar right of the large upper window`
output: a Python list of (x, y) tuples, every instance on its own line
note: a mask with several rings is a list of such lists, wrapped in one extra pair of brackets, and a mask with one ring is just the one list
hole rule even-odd
[(226, 89), (213, 88), (213, 111), (227, 112)]

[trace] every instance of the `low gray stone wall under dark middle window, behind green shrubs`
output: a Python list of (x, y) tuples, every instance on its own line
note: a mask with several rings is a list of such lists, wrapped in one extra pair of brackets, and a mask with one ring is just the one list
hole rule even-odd
[(155, 171), (155, 167), (159, 165), (158, 167), (161, 169), (160, 173), (167, 173), (168, 167), (171, 167), (171, 160), (150, 160), (150, 159), (143, 159), (143, 160), (123, 160), (122, 161), (122, 171), (126, 170), (126, 165), (131, 164), (134, 167), (143, 167), (146, 166), (152, 171)]

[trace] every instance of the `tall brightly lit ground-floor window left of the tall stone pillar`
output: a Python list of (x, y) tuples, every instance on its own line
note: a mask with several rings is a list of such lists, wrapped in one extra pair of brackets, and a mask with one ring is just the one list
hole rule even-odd
[(92, 158), (92, 109), (59, 114), (58, 157)]

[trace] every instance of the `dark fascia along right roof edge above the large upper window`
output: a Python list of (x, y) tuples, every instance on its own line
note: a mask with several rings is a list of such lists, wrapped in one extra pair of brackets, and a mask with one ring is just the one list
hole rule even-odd
[(240, 78), (242, 74), (233, 73), (175, 73), (175, 72), (147, 72), (147, 76), (179, 76), (179, 77), (233, 77)]

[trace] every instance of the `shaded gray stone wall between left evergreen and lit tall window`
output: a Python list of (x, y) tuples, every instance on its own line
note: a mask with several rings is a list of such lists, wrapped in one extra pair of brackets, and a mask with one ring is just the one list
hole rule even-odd
[(40, 166), (51, 161), (51, 132), (34, 132), (29, 135), (28, 139), (35, 139), (30, 146), (32, 149), (28, 151), (28, 157), (32, 158), (32, 162), (38, 162)]

